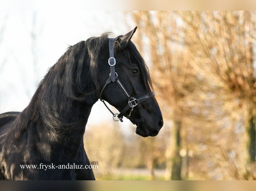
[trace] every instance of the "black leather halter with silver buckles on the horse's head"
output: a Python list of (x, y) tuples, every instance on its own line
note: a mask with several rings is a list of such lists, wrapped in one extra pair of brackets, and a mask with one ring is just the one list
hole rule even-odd
[[(141, 103), (142, 101), (145, 101), (151, 97), (154, 97), (154, 93), (150, 92), (146, 95), (142, 95), (139, 98), (134, 98), (132, 97), (127, 90), (124, 88), (123, 84), (121, 83), (121, 81), (119, 80), (117, 73), (115, 72), (115, 65), (116, 65), (116, 59), (114, 58), (114, 38), (110, 38), (109, 39), (109, 60), (108, 60), (108, 64), (110, 66), (110, 75), (108, 77), (108, 79), (106, 80), (106, 83), (104, 85), (104, 87), (101, 90), (100, 93), (100, 100), (104, 103), (104, 105), (107, 107), (107, 109), (112, 113), (113, 115), (113, 120), (114, 121), (121, 121), (123, 122), (123, 117), (126, 111), (128, 111), (130, 108), (130, 112), (129, 114), (126, 116), (127, 119), (129, 119), (129, 117), (131, 116), (131, 113), (133, 111), (133, 108), (138, 105), (139, 103)], [(118, 113), (113, 113), (111, 111), (111, 109), (106, 105), (104, 99), (102, 98), (102, 94), (106, 88), (106, 86), (111, 83), (111, 82), (116, 82), (118, 84), (118, 86), (121, 88), (121, 90), (123, 91), (123, 93), (126, 95), (126, 97), (128, 98), (128, 105), (126, 105), (126, 107), (118, 114)], [(118, 119), (115, 119), (115, 117), (118, 117)]]

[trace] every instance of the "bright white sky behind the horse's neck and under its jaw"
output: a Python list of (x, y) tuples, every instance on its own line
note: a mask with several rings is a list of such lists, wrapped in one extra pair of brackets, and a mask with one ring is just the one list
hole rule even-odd
[[(0, 113), (22, 111), (48, 68), (69, 45), (104, 32), (124, 35), (134, 27), (122, 11), (1, 11)], [(88, 126), (111, 120), (112, 114), (98, 101)], [(130, 124), (127, 119), (123, 122), (123, 126)]]

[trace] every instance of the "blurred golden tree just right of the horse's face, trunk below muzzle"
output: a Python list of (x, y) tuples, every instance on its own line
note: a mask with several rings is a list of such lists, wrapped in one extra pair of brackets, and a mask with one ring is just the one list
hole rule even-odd
[[(190, 76), (185, 62), (187, 58), (181, 58), (180, 54), (176, 54), (175, 49), (180, 47), (177, 45), (174, 48), (171, 42), (172, 36), (179, 38), (178, 31), (173, 30), (177, 27), (173, 15), (172, 12), (132, 12), (132, 17), (139, 26), (139, 37), (135, 41), (145, 58), (150, 55), (148, 64), (153, 69), (151, 75), (164, 119), (172, 119), (164, 121), (164, 127), (170, 128), (168, 130), (169, 143), (165, 151), (166, 179), (181, 180), (179, 149), (184, 115), (178, 103), (184, 97), (184, 92), (178, 89), (181, 88), (180, 85), (185, 86)], [(145, 42), (148, 43), (145, 44)], [(177, 59), (180, 62), (173, 62)], [(182, 68), (184, 70), (181, 70)]]

